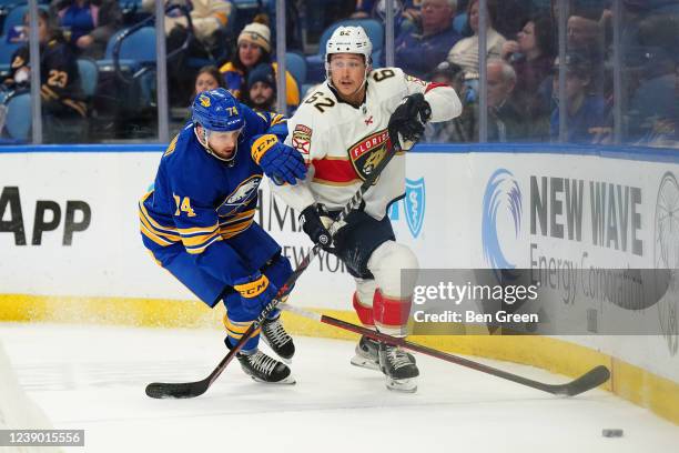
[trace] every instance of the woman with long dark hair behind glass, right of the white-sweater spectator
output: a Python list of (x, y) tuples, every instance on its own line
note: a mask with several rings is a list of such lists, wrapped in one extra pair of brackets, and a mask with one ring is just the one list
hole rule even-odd
[(503, 58), (516, 72), (514, 97), (520, 109), (533, 123), (531, 139), (541, 140), (549, 135), (550, 99), (540, 95), (536, 89), (549, 77), (556, 53), (554, 24), (549, 17), (529, 19), (519, 31), (516, 41), (503, 46)]

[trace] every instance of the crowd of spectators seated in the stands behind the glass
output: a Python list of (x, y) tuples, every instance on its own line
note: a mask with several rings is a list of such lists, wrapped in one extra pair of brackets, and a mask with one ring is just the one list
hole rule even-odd
[[(255, 14), (246, 20), (239, 14), (235, 1), (171, 0), (171, 3), (182, 6), (166, 13), (164, 30), (168, 52), (174, 52), (168, 61), (168, 77), (170, 103), (173, 111), (179, 111), (175, 117), (185, 119), (192, 97), (216, 85), (227, 88), (255, 109), (275, 110), (275, 2), (260, 1)], [(395, 66), (414, 77), (453, 85), (464, 103), (459, 118), (428, 127), (426, 140), (478, 141), (483, 33), (479, 0), (396, 0), (394, 3), (397, 8)], [(619, 103), (626, 142), (677, 147), (679, 1), (622, 0), (621, 46), (616, 54), (612, 1), (569, 0), (563, 61), (558, 57), (560, 3), (557, 0), (487, 0), (488, 141), (611, 143), (614, 107)], [(51, 118), (48, 132), (58, 131), (48, 133), (48, 140), (60, 142), (75, 135), (77, 129), (64, 128), (64, 119), (87, 123), (93, 137), (97, 133), (92, 133), (92, 124), (97, 129), (93, 132), (99, 133), (110, 127), (104, 119), (107, 105), (111, 103), (83, 97), (74, 64), (83, 58), (105, 59), (112, 37), (151, 16), (154, 2), (143, 0), (133, 12), (126, 6), (123, 0), (53, 0), (41, 12), (43, 112)], [(317, 52), (315, 46), (323, 31), (337, 20), (352, 18), (373, 18), (384, 23), (384, 1), (288, 1), (285, 32), (288, 51), (307, 56)], [(26, 34), (28, 18), (24, 22)], [(7, 38), (2, 39), (12, 39), (7, 30), (3, 34)], [(26, 87), (30, 80), (27, 49), (20, 47), (9, 61), (0, 62), (9, 66), (3, 82), (6, 90)], [(373, 64), (386, 64), (385, 56), (386, 51), (382, 52)], [(620, 63), (622, 68), (619, 74), (622, 99), (615, 97), (616, 58), (617, 68)], [(563, 91), (559, 69), (565, 73)], [(54, 73), (67, 76), (59, 78)], [(111, 91), (120, 90), (113, 79), (107, 80), (100, 73), (100, 87), (109, 91), (104, 97), (110, 98)], [(285, 79), (288, 113), (311, 85), (322, 82), (321, 77), (302, 84), (290, 72)], [(146, 91), (152, 92), (153, 88)], [(143, 92), (143, 89), (139, 93), (134, 91), (134, 95), (142, 97)], [(154, 107), (152, 94), (148, 108)], [(138, 108), (135, 112), (142, 110)], [(143, 122), (141, 115), (123, 117), (122, 121)], [(149, 130), (153, 124), (151, 118)], [(118, 129), (128, 137), (135, 132), (134, 127)]]

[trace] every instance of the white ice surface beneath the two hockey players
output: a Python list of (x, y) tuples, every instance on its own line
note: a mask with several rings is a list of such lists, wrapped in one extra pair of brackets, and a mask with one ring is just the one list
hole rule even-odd
[[(19, 382), (54, 427), (84, 429), (74, 452), (679, 451), (679, 426), (605, 391), (555, 397), (417, 355), (416, 394), (348, 364), (345, 341), (295, 339), (297, 384), (272, 386), (232, 362), (204, 395), (152, 400), (152, 381), (205, 378), (225, 353), (219, 331), (2, 324)], [(541, 370), (485, 361), (547, 382)], [(620, 439), (601, 429), (625, 430)]]

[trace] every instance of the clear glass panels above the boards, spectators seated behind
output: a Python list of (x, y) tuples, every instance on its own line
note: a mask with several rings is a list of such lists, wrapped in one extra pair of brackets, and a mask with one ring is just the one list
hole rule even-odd
[(223, 0), (207, 10), (189, 0), (37, 3), (34, 119), (28, 3), (0, 6), (3, 143), (38, 142), (36, 121), (43, 143), (166, 141), (190, 118), (196, 90), (215, 85), (278, 111), (284, 90), (291, 114), (325, 80), (325, 43), (345, 21), (371, 36), (374, 68), (394, 61), (457, 90), (463, 114), (427, 125), (425, 141), (679, 148), (679, 0)]

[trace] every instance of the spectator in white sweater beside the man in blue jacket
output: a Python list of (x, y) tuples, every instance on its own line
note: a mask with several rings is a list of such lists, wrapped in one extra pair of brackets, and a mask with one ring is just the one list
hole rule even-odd
[[(478, 79), (478, 0), (472, 0), (467, 6), (467, 17), (474, 36), (459, 40), (447, 58), (450, 63), (462, 67), (466, 79)], [(493, 28), (497, 19), (497, 1), (488, 0), (487, 6), (486, 54), (487, 58), (499, 58), (506, 39)]]

